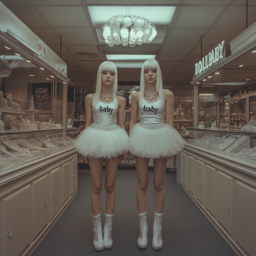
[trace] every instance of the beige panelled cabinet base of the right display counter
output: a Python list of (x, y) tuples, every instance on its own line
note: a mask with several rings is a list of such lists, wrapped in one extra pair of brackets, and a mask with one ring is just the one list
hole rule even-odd
[(182, 189), (237, 255), (256, 255), (256, 166), (189, 147), (182, 163)]

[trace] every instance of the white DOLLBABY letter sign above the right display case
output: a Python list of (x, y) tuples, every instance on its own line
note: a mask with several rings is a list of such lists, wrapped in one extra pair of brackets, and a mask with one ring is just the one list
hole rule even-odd
[(195, 76), (201, 74), (205, 69), (211, 67), (212, 64), (223, 58), (223, 49), (225, 47), (225, 41), (222, 41), (217, 47), (209, 52), (202, 61), (200, 60), (195, 64)]

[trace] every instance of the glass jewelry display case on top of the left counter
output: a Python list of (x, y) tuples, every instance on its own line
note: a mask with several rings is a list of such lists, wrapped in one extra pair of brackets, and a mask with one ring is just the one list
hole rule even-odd
[(76, 128), (0, 132), (0, 172), (73, 146)]

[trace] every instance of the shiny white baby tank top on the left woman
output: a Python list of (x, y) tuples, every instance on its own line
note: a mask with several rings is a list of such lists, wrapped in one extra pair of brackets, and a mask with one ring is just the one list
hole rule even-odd
[(114, 125), (117, 123), (118, 100), (116, 95), (111, 102), (99, 100), (95, 102), (95, 95), (92, 100), (93, 123), (97, 125)]

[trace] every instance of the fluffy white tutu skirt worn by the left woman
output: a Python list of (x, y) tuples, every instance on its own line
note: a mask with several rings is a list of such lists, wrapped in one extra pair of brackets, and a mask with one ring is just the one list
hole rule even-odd
[(74, 147), (88, 158), (111, 158), (128, 152), (128, 141), (127, 132), (120, 127), (114, 131), (99, 131), (89, 126), (74, 140)]

